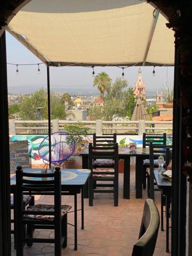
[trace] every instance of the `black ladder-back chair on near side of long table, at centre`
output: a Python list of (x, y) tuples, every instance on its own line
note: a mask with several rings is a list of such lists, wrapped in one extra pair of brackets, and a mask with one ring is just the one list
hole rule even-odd
[[(97, 168), (94, 164), (96, 159), (111, 159), (114, 164), (110, 168)], [(114, 206), (118, 206), (118, 143), (114, 146), (93, 146), (89, 143), (89, 169), (91, 169), (91, 177), (89, 181), (89, 205), (93, 206), (94, 193), (113, 193)], [(104, 181), (104, 184), (97, 181)], [(106, 184), (105, 181), (112, 183)], [(97, 189), (97, 187), (113, 187), (113, 189)]]

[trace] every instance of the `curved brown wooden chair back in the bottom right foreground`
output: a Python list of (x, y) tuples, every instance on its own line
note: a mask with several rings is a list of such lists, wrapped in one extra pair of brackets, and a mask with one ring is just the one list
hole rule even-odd
[(159, 231), (159, 212), (153, 200), (145, 201), (139, 240), (133, 247), (132, 256), (152, 256)]

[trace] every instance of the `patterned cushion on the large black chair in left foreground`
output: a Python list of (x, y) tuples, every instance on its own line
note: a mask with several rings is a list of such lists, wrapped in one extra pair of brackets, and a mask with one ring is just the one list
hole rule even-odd
[[(61, 217), (66, 215), (67, 212), (71, 209), (70, 205), (61, 205)], [(28, 206), (27, 210), (31, 211), (54, 211), (54, 205), (50, 204), (36, 204), (33, 206)], [(46, 219), (49, 221), (54, 220), (54, 215), (24, 215), (28, 219), (33, 220), (42, 220)]]

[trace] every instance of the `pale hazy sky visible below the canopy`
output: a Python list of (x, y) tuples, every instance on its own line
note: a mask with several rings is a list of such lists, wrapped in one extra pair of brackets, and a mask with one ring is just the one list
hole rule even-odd
[[(7, 62), (9, 63), (38, 63), (41, 62), (27, 48), (20, 44), (12, 35), (7, 34)], [(19, 75), (16, 75), (16, 67), (7, 65), (8, 87), (17, 87), (21, 91), (25, 87), (45, 86), (47, 84), (46, 66), (40, 65), (40, 75), (37, 66), (19, 66)], [(125, 79), (129, 86), (134, 87), (139, 67), (130, 67), (124, 70)], [(114, 80), (121, 77), (122, 70), (117, 67), (95, 67), (95, 74), (105, 71)], [(174, 67), (156, 67), (155, 77), (152, 75), (153, 67), (141, 67), (142, 78), (146, 90), (160, 90), (162, 84), (173, 83)], [(61, 67), (50, 68), (51, 88), (83, 88), (93, 89), (92, 68)], [(77, 91), (78, 93), (78, 91)]]

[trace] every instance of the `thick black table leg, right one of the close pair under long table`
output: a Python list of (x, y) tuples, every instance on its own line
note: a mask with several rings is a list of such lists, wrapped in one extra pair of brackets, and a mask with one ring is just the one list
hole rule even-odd
[(135, 164), (135, 186), (136, 186), (136, 198), (142, 198), (142, 157), (136, 156)]

